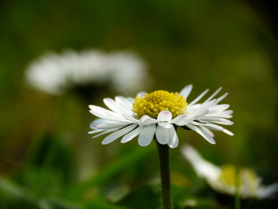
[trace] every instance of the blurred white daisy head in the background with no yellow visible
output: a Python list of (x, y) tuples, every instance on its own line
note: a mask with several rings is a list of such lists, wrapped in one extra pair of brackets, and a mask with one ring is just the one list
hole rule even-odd
[(147, 65), (132, 52), (49, 52), (28, 65), (26, 79), (31, 86), (54, 95), (88, 84), (108, 85), (117, 93), (127, 94), (146, 85)]

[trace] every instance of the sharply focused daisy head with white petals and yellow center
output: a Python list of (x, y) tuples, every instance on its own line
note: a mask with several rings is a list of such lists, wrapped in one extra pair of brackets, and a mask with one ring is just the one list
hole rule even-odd
[(90, 113), (99, 117), (90, 124), (91, 134), (101, 132), (109, 134), (102, 144), (109, 144), (122, 137), (125, 143), (134, 137), (138, 137), (140, 146), (147, 146), (155, 137), (158, 143), (167, 144), (175, 148), (179, 144), (177, 127), (194, 130), (215, 144), (211, 130), (223, 131), (233, 135), (220, 125), (232, 125), (227, 118), (231, 118), (232, 111), (227, 110), (229, 104), (218, 104), (227, 93), (220, 98), (213, 99), (216, 94), (207, 98), (204, 102), (197, 103), (207, 93), (208, 89), (192, 102), (186, 98), (193, 86), (188, 85), (180, 93), (169, 93), (167, 91), (154, 91), (152, 93), (138, 93), (137, 97), (124, 98), (117, 96), (115, 100), (105, 98), (104, 103), (111, 109), (104, 109), (90, 105)]

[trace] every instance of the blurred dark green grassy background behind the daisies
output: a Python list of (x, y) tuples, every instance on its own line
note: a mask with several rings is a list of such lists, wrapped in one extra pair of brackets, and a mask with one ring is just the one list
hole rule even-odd
[[(104, 107), (102, 98), (115, 93), (84, 102), (72, 92), (46, 96), (26, 85), (33, 59), (64, 49), (137, 52), (153, 78), (142, 91), (193, 84), (193, 100), (222, 86), (235, 136), (216, 132), (211, 145), (180, 130), (180, 144), (218, 165), (250, 167), (265, 185), (278, 181), (277, 29), (258, 2), (1, 1), (0, 208), (158, 208), (155, 144), (142, 148), (133, 139), (103, 146), (103, 137), (88, 134), (95, 119), (88, 104)], [(179, 147), (171, 155), (177, 208), (192, 198), (196, 208), (224, 208)]]

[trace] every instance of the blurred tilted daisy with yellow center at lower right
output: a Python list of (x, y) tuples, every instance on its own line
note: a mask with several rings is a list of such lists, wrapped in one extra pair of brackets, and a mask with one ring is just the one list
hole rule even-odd
[(185, 145), (181, 148), (184, 157), (192, 164), (197, 175), (204, 178), (208, 185), (220, 193), (234, 196), (236, 192), (241, 198), (272, 198), (278, 192), (278, 183), (263, 186), (261, 178), (254, 171), (247, 168), (237, 168), (227, 164), (218, 167), (204, 160), (192, 146)]

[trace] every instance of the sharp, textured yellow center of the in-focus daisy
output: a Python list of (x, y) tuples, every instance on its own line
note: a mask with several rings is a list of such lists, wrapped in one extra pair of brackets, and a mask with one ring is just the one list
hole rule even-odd
[(163, 110), (170, 111), (174, 118), (184, 114), (186, 109), (187, 102), (183, 95), (179, 96), (179, 93), (169, 93), (168, 91), (154, 91), (146, 93), (144, 98), (135, 98), (132, 111), (136, 118), (147, 115), (156, 119)]

